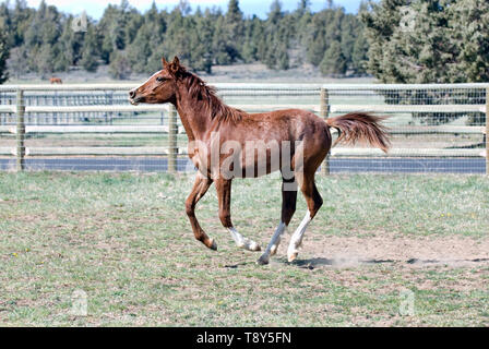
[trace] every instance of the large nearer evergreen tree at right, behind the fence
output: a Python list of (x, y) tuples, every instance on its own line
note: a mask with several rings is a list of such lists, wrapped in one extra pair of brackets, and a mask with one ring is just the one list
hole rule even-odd
[[(369, 72), (385, 83), (467, 82), (461, 50), (470, 47), (473, 34), (465, 37), (467, 41), (462, 38), (468, 28), (484, 25), (474, 17), (467, 26), (469, 22), (456, 16), (467, 3), (382, 0), (372, 4), (373, 11), (361, 14), (369, 41)], [(476, 32), (481, 40), (489, 38), (487, 31)], [(477, 76), (469, 81), (477, 81)]]

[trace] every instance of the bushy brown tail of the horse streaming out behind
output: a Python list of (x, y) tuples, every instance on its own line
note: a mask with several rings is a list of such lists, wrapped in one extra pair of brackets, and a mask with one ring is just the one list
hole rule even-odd
[(350, 112), (341, 117), (329, 118), (329, 127), (338, 130), (338, 139), (333, 144), (339, 142), (355, 144), (357, 142), (368, 143), (371, 146), (381, 148), (387, 153), (391, 142), (389, 141), (387, 130), (381, 124), (386, 117), (377, 117), (366, 112)]

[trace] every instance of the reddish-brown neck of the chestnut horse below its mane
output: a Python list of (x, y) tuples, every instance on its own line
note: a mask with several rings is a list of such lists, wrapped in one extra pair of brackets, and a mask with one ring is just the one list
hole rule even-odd
[(180, 86), (176, 107), (189, 140), (204, 140), (211, 129), (212, 117), (204, 110), (202, 103), (193, 100), (187, 88)]

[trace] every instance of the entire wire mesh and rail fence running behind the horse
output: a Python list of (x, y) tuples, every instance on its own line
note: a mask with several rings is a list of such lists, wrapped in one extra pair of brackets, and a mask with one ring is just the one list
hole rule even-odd
[[(1, 170), (194, 171), (175, 109), (131, 106), (133, 85), (0, 86)], [(323, 172), (487, 172), (489, 84), (217, 84), (249, 112), (389, 116), (392, 149), (338, 145)]]

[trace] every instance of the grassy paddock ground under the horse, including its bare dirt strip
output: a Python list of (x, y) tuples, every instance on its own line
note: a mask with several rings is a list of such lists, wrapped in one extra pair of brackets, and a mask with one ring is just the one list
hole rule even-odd
[[(196, 215), (218, 251), (193, 239), (191, 183), (0, 173), (0, 325), (489, 325), (486, 177), (319, 177), (324, 206), (299, 258), (286, 262), (287, 236), (267, 266), (234, 245), (214, 189)], [(278, 224), (279, 185), (235, 181), (234, 222), (262, 246)], [(293, 229), (305, 210), (300, 197)], [(77, 290), (86, 316), (72, 313)]]

